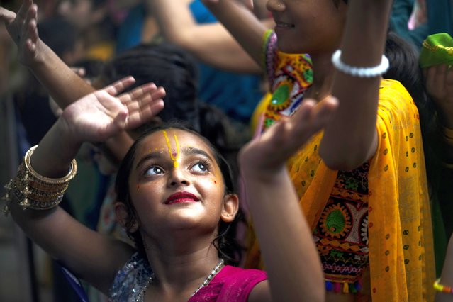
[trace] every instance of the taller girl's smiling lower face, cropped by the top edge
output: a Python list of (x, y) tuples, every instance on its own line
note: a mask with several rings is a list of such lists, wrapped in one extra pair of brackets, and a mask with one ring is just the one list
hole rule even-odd
[(340, 46), (346, 4), (335, 0), (268, 0), (279, 50), (318, 55)]

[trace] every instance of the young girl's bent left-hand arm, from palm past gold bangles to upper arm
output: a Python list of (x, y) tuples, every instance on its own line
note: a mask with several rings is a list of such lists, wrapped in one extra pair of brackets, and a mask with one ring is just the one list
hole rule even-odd
[[(118, 269), (133, 253), (132, 247), (86, 228), (59, 207), (36, 210), (36, 206), (44, 204), (48, 192), (61, 194), (58, 192), (64, 189), (55, 182), (48, 184), (46, 179), (46, 185), (33, 179), (65, 177), (70, 167), (74, 168), (71, 162), (82, 142), (104, 141), (121, 130), (135, 128), (163, 108), (164, 91), (154, 84), (116, 96), (133, 82), (131, 77), (122, 79), (65, 108), (29, 160), (25, 161), (40, 177), (33, 176), (30, 169), (23, 167), (21, 169), (28, 171), (28, 177), (18, 173), (9, 191), (8, 207), (28, 237), (104, 293), (108, 292)], [(35, 193), (28, 196), (31, 208), (23, 210), (19, 202), (26, 200), (18, 188), (25, 185)], [(57, 201), (58, 197), (50, 202)]]

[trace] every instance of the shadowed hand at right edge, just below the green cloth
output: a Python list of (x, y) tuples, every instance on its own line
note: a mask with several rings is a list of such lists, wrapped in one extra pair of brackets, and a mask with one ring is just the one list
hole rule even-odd
[(435, 101), (445, 127), (453, 129), (453, 69), (435, 65), (424, 71), (427, 93)]

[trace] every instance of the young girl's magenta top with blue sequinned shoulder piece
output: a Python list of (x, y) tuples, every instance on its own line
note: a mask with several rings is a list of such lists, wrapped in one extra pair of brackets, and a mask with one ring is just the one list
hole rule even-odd
[[(152, 270), (145, 259), (135, 253), (116, 274), (109, 292), (109, 301), (135, 301), (151, 274)], [(188, 301), (246, 302), (252, 289), (266, 279), (267, 274), (264, 271), (225, 265), (208, 286), (200, 289)]]

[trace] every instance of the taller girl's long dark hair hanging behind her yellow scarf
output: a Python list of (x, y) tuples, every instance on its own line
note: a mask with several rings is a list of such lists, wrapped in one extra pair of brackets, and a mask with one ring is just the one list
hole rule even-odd
[(432, 186), (437, 183), (435, 177), (439, 162), (436, 154), (439, 152), (440, 145), (435, 140), (435, 104), (427, 96), (419, 65), (418, 50), (398, 34), (390, 31), (387, 35), (385, 55), (390, 61), (390, 68), (384, 74), (384, 79), (396, 79), (401, 82), (418, 108), (427, 179)]

